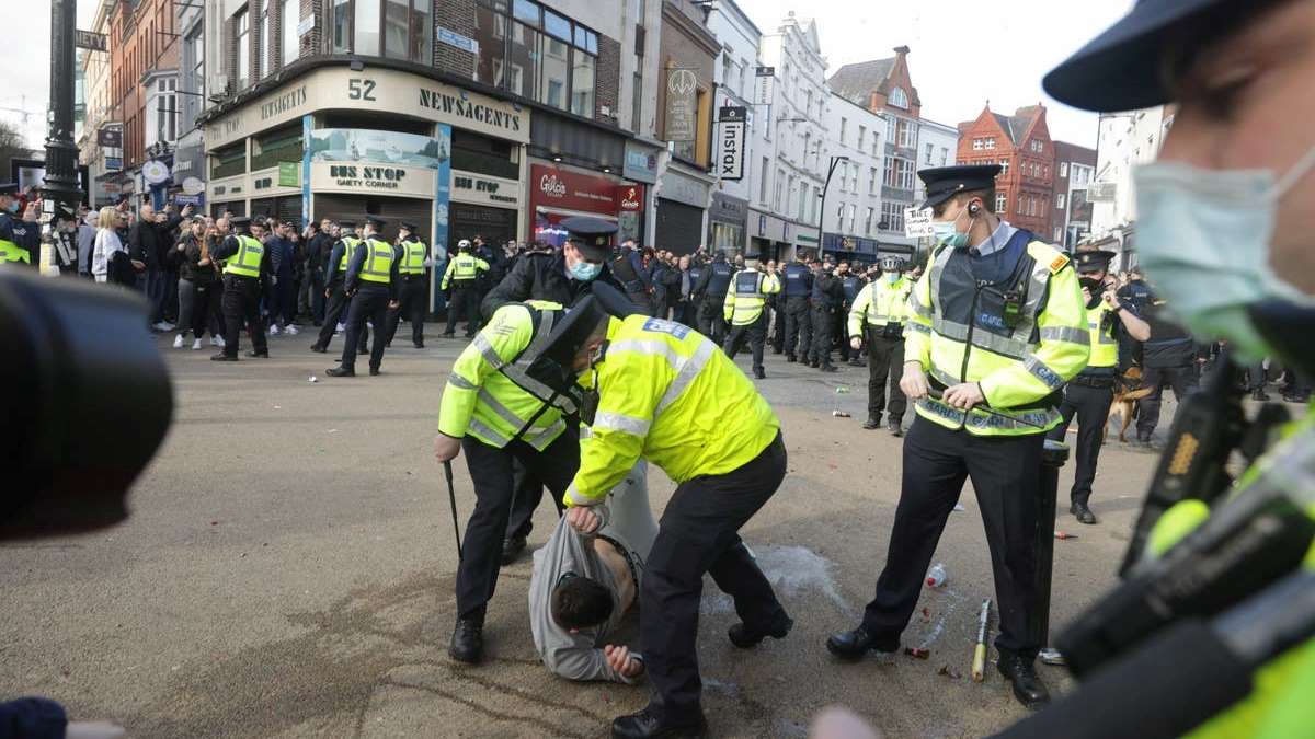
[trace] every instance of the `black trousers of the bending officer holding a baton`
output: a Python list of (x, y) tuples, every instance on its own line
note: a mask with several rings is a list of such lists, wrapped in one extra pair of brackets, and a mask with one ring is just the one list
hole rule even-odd
[(458, 618), (484, 621), (484, 611), (497, 585), (502, 536), (512, 513), (514, 483), (512, 460), (519, 460), (560, 498), (580, 467), (580, 438), (569, 425), (543, 451), (517, 439), (502, 448), (475, 437), (462, 439), (466, 467), (475, 481), (475, 510), (462, 539), (462, 564), (456, 571)]

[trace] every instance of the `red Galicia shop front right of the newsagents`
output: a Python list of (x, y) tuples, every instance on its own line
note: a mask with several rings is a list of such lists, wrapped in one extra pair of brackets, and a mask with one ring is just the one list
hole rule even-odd
[[(565, 242), (562, 221), (572, 216), (593, 216), (619, 224), (627, 214), (640, 213), (644, 185), (617, 181), (560, 164), (530, 164), (531, 238), (552, 246)], [(618, 238), (625, 235), (618, 233)]]

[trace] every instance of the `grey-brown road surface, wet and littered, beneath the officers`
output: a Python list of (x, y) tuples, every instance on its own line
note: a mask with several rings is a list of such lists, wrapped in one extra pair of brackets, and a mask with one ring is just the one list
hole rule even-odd
[[(147, 738), (593, 738), (644, 705), (644, 688), (572, 684), (538, 664), (527, 556), (500, 579), (487, 664), (447, 657), (456, 551), (431, 439), (464, 342), (414, 350), (400, 339), (383, 376), (334, 380), (323, 373), (333, 355), (312, 354), (306, 333), (275, 337), (272, 359), (238, 364), (158, 341), (178, 404), (133, 517), (97, 535), (0, 544), (0, 696), (50, 696), (76, 718)], [(828, 703), (888, 736), (981, 736), (1016, 721), (998, 673), (967, 677), (978, 606), (994, 597), (972, 494), (936, 555), (949, 580), (924, 593), (905, 632), (930, 657), (838, 664), (826, 654), (826, 635), (856, 623), (884, 561), (899, 442), (860, 429), (865, 370), (822, 375), (781, 359), (769, 356), (757, 384), (781, 417), (790, 472), (743, 535), (796, 627), (735, 650), (725, 636), (734, 609), (709, 580), (700, 660), (714, 734), (803, 736)], [(1153, 463), (1112, 442), (1093, 500), (1101, 525), (1080, 526), (1061, 505), (1057, 526), (1078, 538), (1055, 543), (1052, 623), (1114, 581)], [(471, 483), (460, 460), (455, 469), (468, 515)], [(1061, 498), (1070, 480), (1072, 465)], [(650, 485), (660, 510), (673, 485), (658, 471)], [(531, 546), (554, 521), (544, 504)], [(1069, 686), (1056, 668), (1043, 675)]]

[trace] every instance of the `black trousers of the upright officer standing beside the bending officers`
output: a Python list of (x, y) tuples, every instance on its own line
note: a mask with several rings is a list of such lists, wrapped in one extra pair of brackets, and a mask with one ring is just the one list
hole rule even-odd
[(1035, 659), (1040, 644), (1028, 627), (1035, 606), (1036, 508), (1044, 434), (973, 437), (914, 419), (903, 444), (903, 483), (890, 530), (886, 565), (863, 615), (868, 631), (897, 635), (909, 626), (945, 519), (972, 479), (982, 512), (999, 635), (995, 648)]

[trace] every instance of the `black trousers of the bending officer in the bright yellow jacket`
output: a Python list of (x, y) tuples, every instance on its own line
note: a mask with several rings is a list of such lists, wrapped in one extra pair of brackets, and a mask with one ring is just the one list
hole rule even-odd
[(704, 573), (735, 600), (750, 629), (769, 631), (788, 618), (738, 534), (782, 479), (785, 443), (777, 434), (739, 469), (681, 483), (667, 504), (639, 588), (639, 651), (658, 713), (679, 719), (701, 710), (696, 642)]

